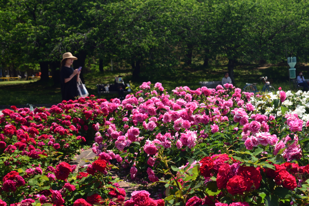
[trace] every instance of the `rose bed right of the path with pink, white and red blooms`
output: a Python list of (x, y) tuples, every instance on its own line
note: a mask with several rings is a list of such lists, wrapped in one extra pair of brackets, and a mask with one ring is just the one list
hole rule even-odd
[(131, 179), (163, 183), (166, 205), (308, 203), (307, 93), (254, 96), (225, 84), (170, 95), (150, 82), (134, 91), (100, 105), (108, 116), (92, 150)]

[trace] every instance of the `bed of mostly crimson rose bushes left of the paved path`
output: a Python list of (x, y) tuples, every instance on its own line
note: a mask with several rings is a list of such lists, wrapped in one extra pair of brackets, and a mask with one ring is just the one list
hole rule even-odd
[(87, 135), (104, 124), (99, 105), (106, 100), (81, 98), (50, 109), (5, 109), (0, 118), (0, 205), (117, 205), (125, 191), (112, 178), (108, 160), (88, 167), (70, 165)]

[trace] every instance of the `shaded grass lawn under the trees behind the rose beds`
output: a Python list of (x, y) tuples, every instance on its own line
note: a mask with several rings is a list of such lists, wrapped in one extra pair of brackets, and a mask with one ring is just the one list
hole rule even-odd
[[(309, 78), (309, 66), (300, 64), (296, 66), (297, 71), (302, 70), (305, 78)], [(161, 82), (163, 87), (171, 92), (177, 86), (188, 86), (191, 89), (200, 87), (199, 81), (221, 81), (223, 72), (227, 71), (227, 66), (210, 66), (202, 68), (200, 66), (193, 68), (179, 69), (177, 72), (165, 72), (156, 74), (155, 76), (147, 76), (141, 73), (139, 82), (134, 82), (135, 86), (140, 85), (144, 81), (151, 81), (153, 84)], [(296, 71), (296, 72), (297, 72)], [(96, 84), (113, 84), (114, 77), (123, 76), (124, 82), (129, 83), (132, 77), (132, 71), (104, 71), (92, 72), (85, 74), (85, 83), (90, 94), (97, 96)], [(267, 76), (273, 80), (272, 86), (278, 89), (290, 90), (288, 67), (285, 64), (241, 64), (234, 69), (235, 86), (243, 89), (246, 83), (258, 83), (257, 88), (261, 90), (263, 83), (259, 79), (261, 76)], [(296, 91), (291, 85), (292, 91)], [(40, 81), (10, 81), (0, 82), (0, 105), (23, 105), (23, 104), (57, 104), (61, 102), (61, 91), (59, 87), (53, 87), (53, 80), (49, 80), (48, 84), (40, 84)], [(101, 98), (115, 98), (117, 94), (104, 95)]]

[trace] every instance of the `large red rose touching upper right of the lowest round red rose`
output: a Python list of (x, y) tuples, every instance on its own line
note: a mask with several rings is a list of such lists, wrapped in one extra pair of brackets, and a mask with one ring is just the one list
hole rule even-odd
[(247, 179), (247, 191), (250, 191), (252, 186), (254, 186), (253, 189), (258, 189), (261, 186), (262, 175), (260, 174), (260, 170), (255, 167), (240, 166), (237, 175), (241, 175)]

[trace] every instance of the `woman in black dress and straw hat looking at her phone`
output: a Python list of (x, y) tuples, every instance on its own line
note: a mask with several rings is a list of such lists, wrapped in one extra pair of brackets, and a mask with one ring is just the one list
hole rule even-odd
[(62, 100), (75, 100), (78, 96), (77, 81), (80, 71), (73, 69), (71, 65), (74, 60), (77, 60), (70, 52), (62, 55), (60, 80), (61, 80), (61, 96)]

